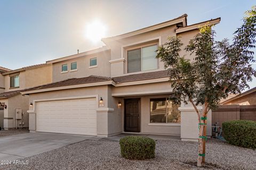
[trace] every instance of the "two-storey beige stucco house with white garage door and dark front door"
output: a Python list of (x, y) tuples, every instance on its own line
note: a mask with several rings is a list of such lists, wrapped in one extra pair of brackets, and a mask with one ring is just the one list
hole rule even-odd
[[(191, 106), (168, 101), (172, 89), (164, 64), (155, 58), (169, 36), (185, 45), (198, 26), (187, 15), (123, 35), (103, 38), (106, 46), (56, 60), (52, 82), (23, 90), (29, 96), (30, 132), (110, 136), (122, 132), (198, 138), (197, 115)], [(185, 55), (182, 50), (181, 55)], [(187, 55), (192, 59), (193, 56)], [(202, 106), (198, 106), (202, 110)], [(211, 113), (209, 113), (211, 124)], [(207, 131), (211, 135), (211, 127)]]

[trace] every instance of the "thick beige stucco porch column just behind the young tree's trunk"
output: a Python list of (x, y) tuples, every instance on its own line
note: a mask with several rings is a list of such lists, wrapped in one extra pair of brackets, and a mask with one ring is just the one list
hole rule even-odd
[[(198, 111), (202, 111), (202, 106), (197, 106)], [(198, 118), (194, 107), (179, 107), (181, 112), (181, 140), (182, 141), (198, 141)]]

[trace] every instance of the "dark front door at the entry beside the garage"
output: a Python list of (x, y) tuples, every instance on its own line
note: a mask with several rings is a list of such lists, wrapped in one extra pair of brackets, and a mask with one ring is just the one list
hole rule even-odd
[(140, 132), (140, 99), (124, 100), (124, 131)]

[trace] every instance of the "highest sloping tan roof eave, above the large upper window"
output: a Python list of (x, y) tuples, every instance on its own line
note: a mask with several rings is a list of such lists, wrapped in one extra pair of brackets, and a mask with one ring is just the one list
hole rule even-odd
[(174, 25), (174, 24), (177, 24), (177, 23), (182, 23), (183, 27), (186, 27), (187, 26), (187, 16), (188, 16), (187, 14), (183, 14), (183, 15), (179, 16), (178, 18), (175, 18), (175, 19), (172, 19), (172, 20), (169, 20), (169, 21), (166, 21), (166, 22), (151, 25), (149, 27), (142, 28), (142, 29), (139, 29), (139, 30), (135, 30), (135, 31), (132, 31), (132, 32), (127, 32), (127, 33), (124, 33), (122, 35), (102, 38), (101, 40), (105, 43), (105, 41), (107, 39), (117, 40), (117, 39), (127, 38), (127, 37), (131, 37), (131, 36), (139, 35), (140, 33), (153, 31), (153, 30), (156, 30), (156, 29), (164, 28), (164, 27), (169, 27), (170, 25)]

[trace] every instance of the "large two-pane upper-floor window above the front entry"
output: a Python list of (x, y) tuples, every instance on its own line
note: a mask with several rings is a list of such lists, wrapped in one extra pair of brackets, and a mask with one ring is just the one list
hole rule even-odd
[(157, 69), (157, 45), (141, 47), (127, 51), (127, 72)]

